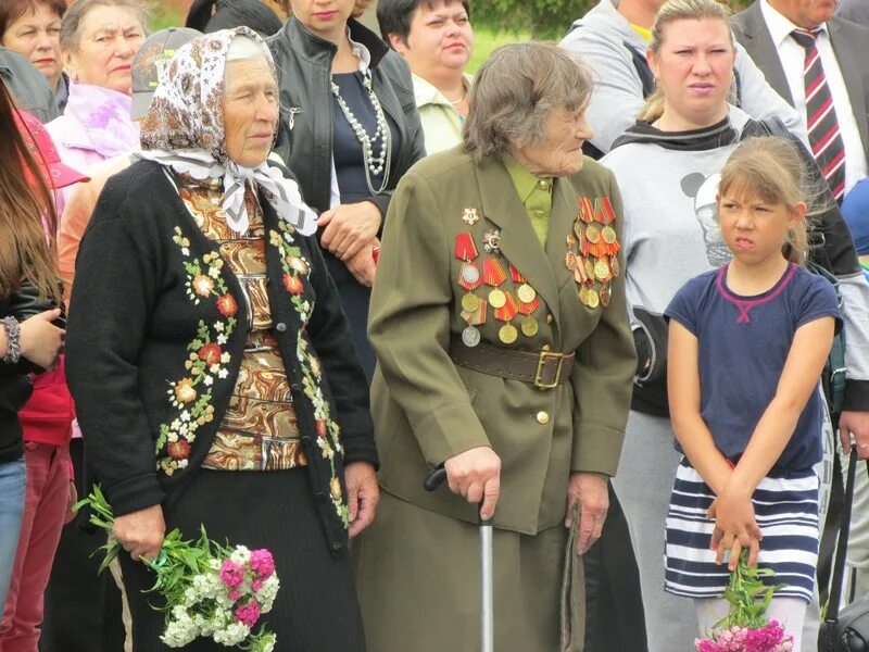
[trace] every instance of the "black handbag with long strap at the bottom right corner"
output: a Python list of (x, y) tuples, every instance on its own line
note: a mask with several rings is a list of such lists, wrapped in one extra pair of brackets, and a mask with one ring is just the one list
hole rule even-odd
[[(867, 461), (866, 467), (869, 472), (869, 461)], [(852, 448), (839, 526), (839, 542), (835, 548), (835, 564), (830, 584), (830, 599), (827, 602), (826, 616), (818, 636), (818, 652), (869, 652), (869, 595), (859, 598), (841, 612), (839, 611), (842, 582), (845, 576), (845, 555), (848, 548), (856, 472), (857, 449)]]

